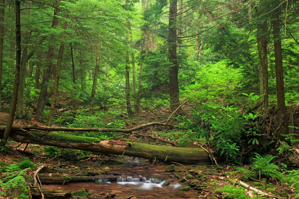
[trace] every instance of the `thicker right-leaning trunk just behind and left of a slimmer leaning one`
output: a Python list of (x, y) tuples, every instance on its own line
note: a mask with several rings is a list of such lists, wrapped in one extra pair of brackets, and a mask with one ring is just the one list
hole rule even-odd
[[(59, 10), (54, 8), (54, 16), (53, 16), (53, 21), (52, 21), (52, 28), (55, 28), (58, 25), (58, 17), (57, 14), (59, 13)], [(51, 35), (52, 39), (55, 40), (55, 36)], [(46, 104), (46, 99), (48, 95), (48, 82), (50, 80), (51, 76), (51, 70), (53, 68), (53, 59), (54, 59), (54, 51), (55, 51), (55, 42), (52, 42), (49, 44), (49, 49), (47, 53), (47, 62), (46, 62), (46, 68), (45, 72), (43, 75), (43, 80), (41, 82), (41, 87), (40, 87), (40, 96), (38, 99), (37, 103), (37, 108), (36, 108), (36, 116), (40, 120), (42, 120), (43, 115), (44, 115), (44, 108)]]

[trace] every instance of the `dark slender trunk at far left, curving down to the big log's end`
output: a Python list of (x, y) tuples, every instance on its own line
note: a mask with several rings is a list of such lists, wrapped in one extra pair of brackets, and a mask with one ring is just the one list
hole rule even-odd
[(21, 53), (22, 53), (21, 52), (21, 8), (20, 8), (21, 3), (19, 1), (15, 1), (15, 3), (16, 3), (16, 71), (15, 71), (15, 79), (13, 84), (11, 107), (9, 111), (8, 120), (6, 123), (6, 128), (3, 134), (4, 140), (7, 140), (10, 131), (12, 130), (13, 119), (15, 117), (15, 112), (17, 108), (20, 73), (21, 73)]

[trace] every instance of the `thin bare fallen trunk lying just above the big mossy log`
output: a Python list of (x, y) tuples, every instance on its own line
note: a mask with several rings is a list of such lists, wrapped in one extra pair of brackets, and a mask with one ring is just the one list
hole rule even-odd
[[(66, 127), (43, 127), (39, 125), (22, 125), (22, 126), (12, 126), (13, 131), (17, 130), (41, 130), (41, 131), (64, 131), (64, 132), (75, 132), (75, 131), (83, 131), (83, 132), (122, 132), (122, 133), (131, 133), (133, 131), (137, 131), (150, 126), (166, 126), (173, 127), (173, 125), (168, 123), (160, 123), (160, 122), (151, 122), (139, 125), (130, 129), (118, 129), (118, 128), (66, 128)], [(4, 131), (6, 127), (0, 127), (0, 131)]]

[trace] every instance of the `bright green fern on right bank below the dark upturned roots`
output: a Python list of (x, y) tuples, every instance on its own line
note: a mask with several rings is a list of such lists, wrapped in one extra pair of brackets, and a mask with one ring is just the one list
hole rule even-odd
[(266, 177), (281, 179), (283, 175), (279, 172), (277, 165), (271, 163), (277, 156), (272, 155), (259, 155), (255, 153), (255, 158), (250, 158), (251, 167), (254, 168), (259, 174)]

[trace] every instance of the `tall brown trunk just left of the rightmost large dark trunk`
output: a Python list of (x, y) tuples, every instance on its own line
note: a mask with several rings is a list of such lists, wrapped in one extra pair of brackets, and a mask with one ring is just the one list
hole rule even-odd
[(264, 21), (258, 25), (257, 29), (257, 43), (259, 53), (259, 94), (263, 95), (263, 107), (268, 109), (268, 35), (267, 35), (267, 22)]

